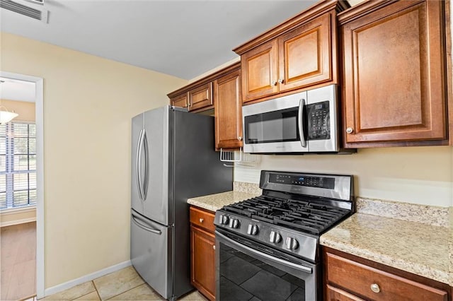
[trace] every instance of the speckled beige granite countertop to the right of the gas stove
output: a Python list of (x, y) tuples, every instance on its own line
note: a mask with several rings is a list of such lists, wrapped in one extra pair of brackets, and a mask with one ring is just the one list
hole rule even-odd
[(449, 228), (355, 213), (321, 235), (323, 246), (453, 285)]

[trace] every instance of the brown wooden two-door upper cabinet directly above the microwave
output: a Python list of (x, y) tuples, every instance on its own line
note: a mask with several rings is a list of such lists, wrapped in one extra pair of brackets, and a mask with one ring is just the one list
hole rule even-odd
[(241, 55), (243, 102), (337, 83), (336, 12), (346, 7), (343, 1), (320, 1), (234, 49)]

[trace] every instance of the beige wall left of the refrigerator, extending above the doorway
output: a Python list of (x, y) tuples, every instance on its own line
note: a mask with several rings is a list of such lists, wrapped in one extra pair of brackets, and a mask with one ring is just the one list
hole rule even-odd
[(44, 78), (45, 288), (130, 259), (130, 121), (187, 81), (1, 33), (1, 71)]

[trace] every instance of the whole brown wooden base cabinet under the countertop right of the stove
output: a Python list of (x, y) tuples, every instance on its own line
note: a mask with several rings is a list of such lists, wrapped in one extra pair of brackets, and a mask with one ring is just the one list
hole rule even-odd
[(449, 285), (324, 248), (324, 289), (329, 301), (451, 300)]

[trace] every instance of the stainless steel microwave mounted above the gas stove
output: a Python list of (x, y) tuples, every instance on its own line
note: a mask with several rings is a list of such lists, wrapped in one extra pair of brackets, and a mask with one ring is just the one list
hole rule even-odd
[(246, 105), (242, 116), (244, 153), (343, 152), (336, 85)]

